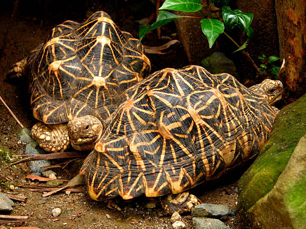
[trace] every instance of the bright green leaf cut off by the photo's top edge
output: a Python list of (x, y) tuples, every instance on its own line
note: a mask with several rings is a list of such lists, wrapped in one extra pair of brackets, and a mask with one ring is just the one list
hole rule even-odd
[(159, 9), (172, 9), (184, 12), (200, 10), (203, 4), (200, 0), (165, 0)]

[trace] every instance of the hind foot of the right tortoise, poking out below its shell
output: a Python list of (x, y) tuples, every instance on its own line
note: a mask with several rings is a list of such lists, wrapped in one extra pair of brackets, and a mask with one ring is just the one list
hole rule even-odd
[(167, 214), (191, 212), (196, 205), (201, 203), (199, 199), (188, 192), (167, 195), (162, 197), (160, 202)]

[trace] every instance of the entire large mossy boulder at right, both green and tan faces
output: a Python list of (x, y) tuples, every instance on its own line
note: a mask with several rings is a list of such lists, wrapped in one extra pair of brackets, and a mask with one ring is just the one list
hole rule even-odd
[(306, 225), (305, 104), (306, 95), (280, 110), (269, 140), (238, 182), (237, 210), (256, 227)]

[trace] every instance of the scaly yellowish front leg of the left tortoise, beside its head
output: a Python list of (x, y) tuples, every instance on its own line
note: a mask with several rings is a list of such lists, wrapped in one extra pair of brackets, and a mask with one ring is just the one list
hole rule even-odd
[(47, 152), (63, 152), (70, 144), (67, 124), (47, 125), (36, 123), (31, 129), (31, 137)]

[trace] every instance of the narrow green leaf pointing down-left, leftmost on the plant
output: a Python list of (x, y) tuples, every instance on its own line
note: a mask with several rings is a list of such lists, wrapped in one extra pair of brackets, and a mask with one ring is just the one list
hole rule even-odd
[(184, 16), (179, 16), (174, 13), (170, 13), (168, 11), (160, 10), (155, 23), (149, 26), (139, 26), (139, 40), (141, 40), (143, 36), (149, 31), (158, 28), (162, 25), (165, 25), (166, 23), (175, 20), (176, 18), (179, 17), (184, 17)]

